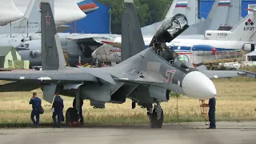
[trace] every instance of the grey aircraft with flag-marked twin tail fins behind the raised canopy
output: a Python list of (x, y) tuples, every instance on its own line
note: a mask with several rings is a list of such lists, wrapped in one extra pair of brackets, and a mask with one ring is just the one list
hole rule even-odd
[[(242, 0), (215, 0), (206, 20), (198, 19), (199, 15), (205, 15), (198, 12), (200, 9), (198, 2), (189, 0), (174, 0), (172, 2), (166, 17), (172, 14), (184, 14), (190, 25), (190, 28), (180, 34), (178, 38), (183, 38), (186, 35), (203, 35), (206, 30), (230, 30), (242, 19)], [(154, 35), (160, 24), (161, 22), (156, 22), (142, 27), (142, 34)]]

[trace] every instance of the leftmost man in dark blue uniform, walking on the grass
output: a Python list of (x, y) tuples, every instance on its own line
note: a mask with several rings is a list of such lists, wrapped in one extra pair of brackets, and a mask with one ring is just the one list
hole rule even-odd
[[(42, 101), (40, 98), (38, 98), (37, 93), (34, 92), (32, 98), (30, 99), (30, 105), (32, 105), (32, 111), (30, 118), (32, 122), (34, 123), (35, 127), (39, 126), (40, 122), (40, 114), (39, 114), (39, 106), (41, 106)], [(34, 121), (34, 116), (36, 117), (37, 121)]]

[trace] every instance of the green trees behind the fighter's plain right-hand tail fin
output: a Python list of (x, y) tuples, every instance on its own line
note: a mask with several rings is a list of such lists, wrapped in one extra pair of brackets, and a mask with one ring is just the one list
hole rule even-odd
[[(111, 32), (121, 34), (122, 32), (122, 10), (123, 0), (97, 0), (106, 6), (110, 6)], [(134, 0), (138, 13), (140, 26), (147, 26), (159, 22), (169, 10), (172, 0)]]

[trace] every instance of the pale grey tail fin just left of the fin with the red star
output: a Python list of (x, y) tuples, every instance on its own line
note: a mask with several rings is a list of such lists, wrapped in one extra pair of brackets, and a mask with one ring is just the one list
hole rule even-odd
[(1, 34), (26, 34), (40, 31), (40, 2), (31, 0), (24, 17), (16, 22), (0, 27)]

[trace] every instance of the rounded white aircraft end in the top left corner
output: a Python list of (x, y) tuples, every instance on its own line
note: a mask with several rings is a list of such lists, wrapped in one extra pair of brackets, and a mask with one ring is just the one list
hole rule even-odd
[(0, 26), (17, 21), (24, 14), (14, 5), (13, 0), (1, 0), (0, 2)]

